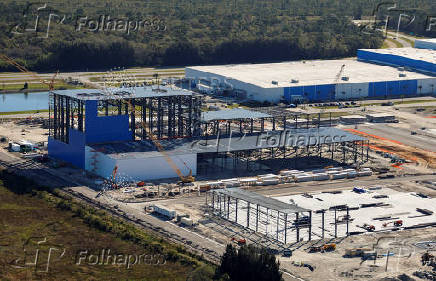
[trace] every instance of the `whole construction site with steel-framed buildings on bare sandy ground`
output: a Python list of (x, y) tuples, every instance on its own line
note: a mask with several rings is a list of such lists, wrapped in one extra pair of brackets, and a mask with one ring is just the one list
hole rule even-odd
[(48, 112), (1, 119), (2, 166), (213, 262), (256, 244), (285, 280), (435, 278), (433, 95), (248, 107), (177, 83), (49, 92)]

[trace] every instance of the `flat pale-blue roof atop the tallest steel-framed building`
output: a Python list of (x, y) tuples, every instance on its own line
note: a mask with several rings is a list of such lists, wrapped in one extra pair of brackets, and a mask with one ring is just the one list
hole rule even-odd
[(101, 89), (55, 90), (53, 93), (79, 100), (112, 100), (192, 95), (191, 91), (170, 87), (159, 87), (159, 90), (157, 87), (108, 88), (107, 91)]

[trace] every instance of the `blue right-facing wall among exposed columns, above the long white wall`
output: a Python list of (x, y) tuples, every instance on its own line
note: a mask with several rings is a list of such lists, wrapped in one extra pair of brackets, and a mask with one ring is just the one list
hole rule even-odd
[(86, 101), (85, 122), (86, 144), (132, 140), (129, 116), (97, 116), (97, 101)]

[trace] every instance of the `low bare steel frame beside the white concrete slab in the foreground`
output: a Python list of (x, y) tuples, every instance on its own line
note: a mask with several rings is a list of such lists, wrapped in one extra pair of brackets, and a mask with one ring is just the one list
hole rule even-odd
[(240, 188), (208, 191), (205, 200), (212, 214), (284, 245), (349, 236), (353, 220), (347, 205), (313, 211)]

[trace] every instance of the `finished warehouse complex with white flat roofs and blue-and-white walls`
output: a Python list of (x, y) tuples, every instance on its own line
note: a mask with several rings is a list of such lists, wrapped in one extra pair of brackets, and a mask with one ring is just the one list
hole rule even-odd
[(418, 48), (359, 50), (358, 58), (269, 64), (196, 66), (196, 85), (233, 89), (246, 98), (330, 101), (434, 95), (436, 51)]

